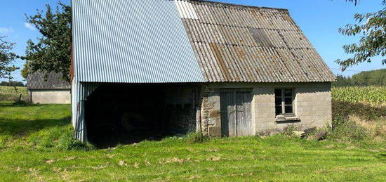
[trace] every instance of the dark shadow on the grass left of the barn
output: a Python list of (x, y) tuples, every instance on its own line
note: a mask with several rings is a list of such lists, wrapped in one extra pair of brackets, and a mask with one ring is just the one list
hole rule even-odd
[(27, 136), (31, 133), (70, 124), (70, 118), (61, 119), (7, 119), (0, 117), (0, 134)]

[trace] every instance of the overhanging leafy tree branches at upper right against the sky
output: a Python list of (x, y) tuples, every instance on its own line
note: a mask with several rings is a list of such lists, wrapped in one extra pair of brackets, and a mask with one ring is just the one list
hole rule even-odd
[[(359, 0), (347, 1), (357, 4)], [(335, 60), (342, 71), (358, 63), (370, 63), (375, 56), (386, 56), (386, 0), (382, 1), (382, 5), (384, 7), (378, 12), (354, 15), (357, 24), (349, 24), (338, 30), (343, 35), (361, 36), (359, 43), (343, 46), (345, 53), (354, 54), (352, 58)], [(386, 59), (382, 60), (382, 64), (385, 63)]]

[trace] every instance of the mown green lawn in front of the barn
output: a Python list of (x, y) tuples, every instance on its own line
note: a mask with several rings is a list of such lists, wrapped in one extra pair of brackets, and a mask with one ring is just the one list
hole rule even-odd
[(386, 181), (382, 143), (290, 136), (170, 137), (105, 150), (65, 150), (69, 105), (0, 103), (0, 181)]

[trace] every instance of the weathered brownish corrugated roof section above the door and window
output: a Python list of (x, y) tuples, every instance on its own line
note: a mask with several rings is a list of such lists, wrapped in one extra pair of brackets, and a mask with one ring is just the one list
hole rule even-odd
[(208, 82), (331, 82), (334, 74), (287, 10), (175, 4)]

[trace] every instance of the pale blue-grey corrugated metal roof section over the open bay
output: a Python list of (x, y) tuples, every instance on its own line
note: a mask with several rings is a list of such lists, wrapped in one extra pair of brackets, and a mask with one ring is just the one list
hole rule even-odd
[(204, 82), (173, 1), (72, 0), (79, 82)]

